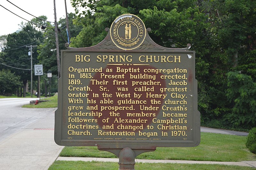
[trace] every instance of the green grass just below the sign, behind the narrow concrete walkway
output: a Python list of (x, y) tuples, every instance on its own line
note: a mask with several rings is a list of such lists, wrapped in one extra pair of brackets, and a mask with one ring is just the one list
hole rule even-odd
[[(201, 133), (201, 143), (197, 147), (157, 147), (154, 152), (145, 152), (137, 159), (232, 161), (256, 160), (256, 155), (245, 146), (246, 137), (236, 135)], [(113, 153), (99, 151), (97, 147), (66, 146), (62, 157), (116, 158)]]

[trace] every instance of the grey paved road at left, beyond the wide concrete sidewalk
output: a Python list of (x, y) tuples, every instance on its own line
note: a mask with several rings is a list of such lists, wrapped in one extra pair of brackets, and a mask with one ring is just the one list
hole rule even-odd
[(53, 111), (53, 108), (21, 108), (22, 105), (29, 104), (30, 100), (36, 99), (0, 98), (0, 141)]

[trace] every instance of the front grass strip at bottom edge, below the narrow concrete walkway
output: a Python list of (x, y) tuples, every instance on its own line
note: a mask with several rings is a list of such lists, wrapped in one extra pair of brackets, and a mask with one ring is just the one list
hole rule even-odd
[[(116, 162), (84, 162), (84, 161), (55, 161), (48, 170), (55, 169), (76, 169), (76, 170), (116, 170), (119, 168)], [(227, 166), (227, 165), (207, 165), (207, 164), (172, 164), (172, 163), (136, 163), (136, 170), (158, 170), (158, 169), (177, 169), (177, 170), (188, 170), (188, 169), (201, 169), (201, 170), (247, 170), (254, 169), (246, 166)]]

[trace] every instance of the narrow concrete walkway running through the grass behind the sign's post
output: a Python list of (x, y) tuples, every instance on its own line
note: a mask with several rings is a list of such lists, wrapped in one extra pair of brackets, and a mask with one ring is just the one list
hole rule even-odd
[[(65, 161), (99, 161), (99, 162), (117, 162), (118, 158), (81, 158), (81, 157), (58, 157), (57, 160)], [(193, 161), (193, 160), (152, 160), (152, 159), (135, 159), (136, 163), (177, 163), (177, 164), (220, 164), (220, 165), (236, 165), (249, 166), (256, 168), (256, 161), (242, 162), (217, 162), (217, 161)]]

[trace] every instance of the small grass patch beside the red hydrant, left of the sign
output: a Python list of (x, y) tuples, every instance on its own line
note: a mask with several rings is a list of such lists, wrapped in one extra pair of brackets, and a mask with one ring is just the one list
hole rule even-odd
[(49, 101), (48, 102), (38, 103), (38, 104), (25, 104), (22, 107), (26, 107), (26, 108), (58, 107), (58, 95), (54, 95), (52, 97), (44, 98), (44, 99), (41, 99), (41, 100), (49, 100)]

